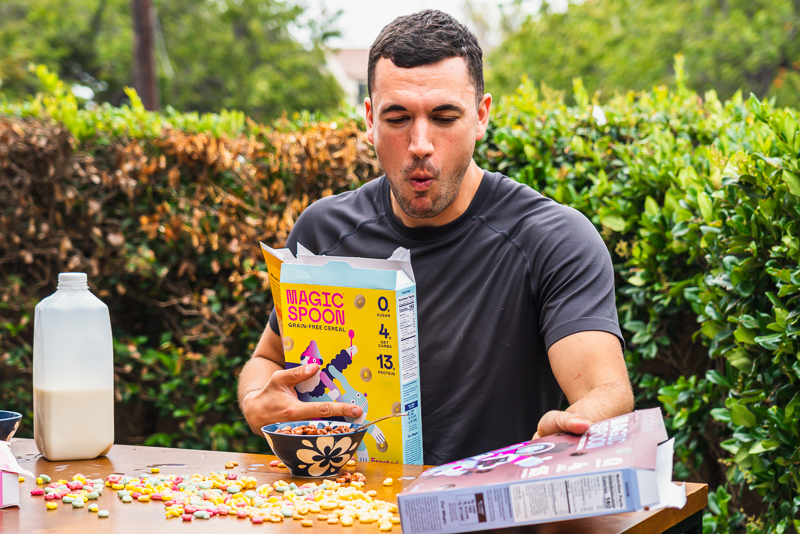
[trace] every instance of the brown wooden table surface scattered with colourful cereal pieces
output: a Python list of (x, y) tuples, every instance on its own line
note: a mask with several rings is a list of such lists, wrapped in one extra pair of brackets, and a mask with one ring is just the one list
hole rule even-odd
[[(71, 480), (72, 475), (82, 473), (87, 478), (103, 478), (112, 473), (137, 476), (150, 473), (151, 467), (159, 467), (161, 474), (192, 475), (195, 473), (208, 475), (211, 471), (233, 471), (240, 477), (255, 477), (259, 484), (278, 480), (291, 481), (287, 469), (271, 468), (269, 462), (274, 456), (260, 454), (241, 454), (233, 452), (196, 451), (183, 449), (162, 449), (157, 447), (132, 447), (115, 445), (108, 456), (95, 460), (78, 462), (49, 462), (42, 458), (36, 445), (30, 439), (14, 439), (11, 450), (19, 459), (20, 465), (32, 473), (50, 475), (53, 480)], [(237, 461), (234, 469), (225, 469), (225, 464)], [(367, 476), (367, 489), (375, 489), (377, 498), (397, 502), (396, 494), (408, 486), (413, 478), (425, 468), (413, 465), (396, 465), (380, 463), (358, 463), (352, 471), (360, 471)], [(392, 477), (393, 486), (383, 486), (382, 481)], [(308, 479), (295, 479), (299, 484)], [(314, 517), (313, 528), (303, 528), (299, 521), (288, 519), (283, 523), (264, 523), (254, 525), (245, 519), (234, 516), (215, 516), (209, 520), (195, 519), (184, 523), (180, 518), (167, 520), (164, 505), (158, 501), (148, 503), (132, 502), (123, 504), (116, 493), (107, 488), (105, 494), (97, 502), (100, 509), (110, 512), (110, 517), (100, 519), (97, 514), (86, 508), (73, 509), (59, 501), (57, 510), (48, 511), (42, 497), (31, 497), (30, 491), (37, 488), (36, 481), (26, 477), (20, 484), (20, 508), (0, 510), (0, 532), (5, 533), (135, 533), (150, 532), (298, 532), (309, 533), (335, 532), (371, 532), (378, 533), (375, 524), (361, 525), (357, 521), (352, 527), (328, 525)], [(556, 533), (599, 533), (599, 534), (650, 534), (667, 532), (677, 534), (684, 532), (702, 532), (700, 526), (703, 508), (708, 502), (708, 486), (705, 484), (687, 484), (688, 501), (682, 510), (662, 509), (653, 512), (636, 512), (607, 515), (587, 519), (574, 519), (555, 523), (530, 525), (505, 529), (501, 532), (524, 532), (525, 534)], [(695, 530), (696, 529), (696, 530)], [(400, 532), (395, 527), (393, 532)]]

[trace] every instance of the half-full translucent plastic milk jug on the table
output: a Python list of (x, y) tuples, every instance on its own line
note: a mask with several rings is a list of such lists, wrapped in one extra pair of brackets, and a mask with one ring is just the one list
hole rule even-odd
[(33, 436), (48, 460), (88, 460), (114, 444), (114, 353), (108, 307), (85, 273), (61, 273), (36, 305)]

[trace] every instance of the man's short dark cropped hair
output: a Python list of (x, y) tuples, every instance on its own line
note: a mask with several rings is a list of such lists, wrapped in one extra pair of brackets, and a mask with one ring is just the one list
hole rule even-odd
[(375, 66), (381, 58), (390, 59), (400, 68), (410, 69), (433, 65), (451, 57), (462, 57), (467, 62), (476, 100), (480, 104), (483, 98), (483, 51), (469, 28), (436, 9), (398, 17), (381, 30), (369, 49), (369, 96), (372, 98)]

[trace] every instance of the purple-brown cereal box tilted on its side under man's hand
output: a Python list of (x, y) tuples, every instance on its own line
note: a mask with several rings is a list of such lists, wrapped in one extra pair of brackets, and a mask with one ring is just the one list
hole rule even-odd
[(673, 440), (658, 408), (428, 469), (398, 495), (403, 532), (464, 532), (660, 506), (682, 507), (671, 483)]

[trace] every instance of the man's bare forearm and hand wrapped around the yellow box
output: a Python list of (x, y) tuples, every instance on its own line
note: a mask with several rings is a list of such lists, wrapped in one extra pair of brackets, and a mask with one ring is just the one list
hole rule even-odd
[(319, 365), (286, 370), (281, 337), (267, 324), (253, 356), (239, 375), (239, 406), (255, 433), (271, 423), (337, 416), (358, 417), (361, 408), (336, 402), (302, 402), (294, 387), (314, 376)]

